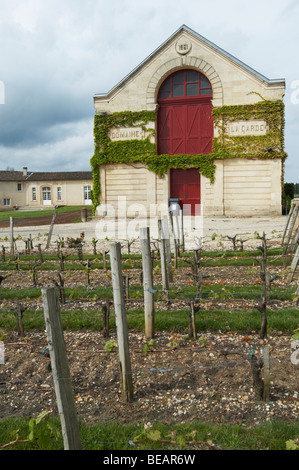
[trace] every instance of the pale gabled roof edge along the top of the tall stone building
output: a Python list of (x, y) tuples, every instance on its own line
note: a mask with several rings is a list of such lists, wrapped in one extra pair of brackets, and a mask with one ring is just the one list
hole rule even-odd
[(137, 72), (140, 71), (142, 67), (144, 67), (150, 60), (153, 59), (153, 57), (159, 53), (165, 46), (167, 46), (171, 41), (174, 41), (177, 36), (179, 36), (182, 33), (188, 33), (191, 36), (193, 36), (195, 39), (198, 39), (199, 41), (203, 42), (206, 46), (210, 47), (213, 49), (215, 52), (221, 54), (222, 56), (226, 57), (228, 60), (230, 60), (232, 63), (235, 65), (242, 67), (244, 70), (249, 72), (251, 75), (255, 76), (257, 79), (261, 80), (262, 82), (265, 82), (267, 85), (276, 85), (276, 84), (284, 84), (285, 80), (284, 79), (269, 79), (262, 75), (261, 73), (257, 72), (254, 70), (252, 67), (249, 67), (247, 64), (242, 62), (241, 60), (237, 59), (233, 55), (229, 54), (226, 52), (224, 49), (221, 47), (217, 46), (213, 42), (209, 41), (205, 37), (201, 36), (200, 34), (196, 33), (194, 30), (189, 28), (186, 25), (182, 25), (174, 34), (172, 34), (165, 42), (163, 42), (157, 49), (152, 52), (144, 61), (142, 61), (135, 69), (133, 69), (128, 75), (126, 75), (117, 85), (115, 85), (108, 93), (97, 93), (95, 94), (94, 98), (101, 98), (101, 97), (108, 97), (111, 96), (117, 89), (121, 88), (124, 86), (124, 84), (132, 78)]

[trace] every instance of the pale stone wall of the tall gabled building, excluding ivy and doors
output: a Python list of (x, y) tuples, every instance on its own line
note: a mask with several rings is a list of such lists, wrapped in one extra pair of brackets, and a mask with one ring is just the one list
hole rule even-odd
[[(157, 110), (158, 90), (165, 78), (180, 69), (192, 68), (203, 73), (213, 89), (213, 107), (254, 104), (262, 99), (282, 100), (283, 79), (269, 80), (182, 26), (140, 66), (107, 94), (96, 95), (97, 114), (120, 111)], [(152, 123), (156, 129), (156, 123)], [(136, 137), (127, 129), (127, 138)], [(135, 129), (136, 131), (136, 129)], [(131, 136), (130, 136), (131, 132)], [(229, 131), (233, 135), (264, 135), (265, 122), (237, 122)], [(218, 135), (215, 127), (214, 136)], [(110, 133), (111, 139), (117, 137)], [(233, 158), (216, 160), (215, 181), (201, 177), (201, 204), (207, 216), (258, 216), (281, 214), (282, 160)], [(101, 196), (99, 203), (116, 205), (119, 195), (129, 204), (136, 201), (168, 204), (169, 175), (157, 177), (145, 165), (114, 164), (100, 167)], [(116, 206), (115, 206), (116, 207)], [(100, 212), (100, 209), (98, 213)]]

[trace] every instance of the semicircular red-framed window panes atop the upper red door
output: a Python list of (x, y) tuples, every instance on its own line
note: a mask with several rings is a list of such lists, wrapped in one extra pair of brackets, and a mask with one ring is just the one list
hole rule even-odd
[(180, 98), (212, 97), (212, 86), (202, 73), (196, 70), (178, 70), (162, 83), (158, 101)]

